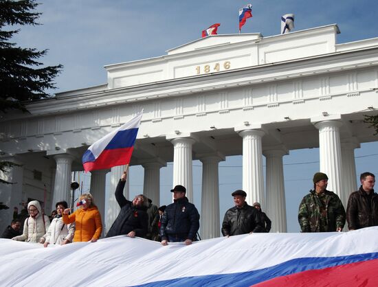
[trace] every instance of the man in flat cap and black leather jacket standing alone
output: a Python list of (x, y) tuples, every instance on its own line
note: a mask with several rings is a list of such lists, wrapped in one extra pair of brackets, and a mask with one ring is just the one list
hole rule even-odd
[(257, 209), (245, 202), (245, 191), (236, 190), (231, 195), (234, 197), (235, 206), (225, 213), (222, 224), (223, 236), (263, 232), (263, 222), (260, 221)]

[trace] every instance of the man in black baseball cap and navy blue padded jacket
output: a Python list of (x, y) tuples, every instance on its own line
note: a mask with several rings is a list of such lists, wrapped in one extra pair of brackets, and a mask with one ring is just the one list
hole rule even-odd
[(199, 229), (199, 213), (186, 198), (184, 186), (176, 185), (170, 192), (173, 192), (173, 203), (164, 210), (160, 227), (162, 245), (165, 246), (168, 242), (185, 242), (190, 245)]

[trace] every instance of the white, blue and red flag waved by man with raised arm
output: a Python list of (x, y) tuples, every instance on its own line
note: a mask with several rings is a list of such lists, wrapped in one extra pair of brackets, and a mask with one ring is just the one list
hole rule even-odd
[(129, 122), (93, 143), (82, 156), (84, 170), (90, 172), (130, 163), (142, 115), (142, 112), (138, 113)]

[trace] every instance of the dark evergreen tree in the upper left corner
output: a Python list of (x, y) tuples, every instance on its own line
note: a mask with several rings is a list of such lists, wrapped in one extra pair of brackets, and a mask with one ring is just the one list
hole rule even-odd
[(45, 90), (55, 88), (53, 80), (63, 67), (42, 67), (38, 59), (47, 50), (17, 47), (10, 42), (20, 31), (12, 30), (14, 25), (39, 25), (37, 6), (35, 0), (0, 0), (0, 112), (14, 108), (26, 111), (25, 102), (49, 97)]

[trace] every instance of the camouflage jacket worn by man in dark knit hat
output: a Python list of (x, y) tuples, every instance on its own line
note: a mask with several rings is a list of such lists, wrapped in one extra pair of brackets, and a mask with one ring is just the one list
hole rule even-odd
[(320, 206), (322, 202), (314, 190), (304, 196), (299, 206), (298, 221), (302, 232), (336, 231), (345, 225), (345, 209), (342, 202), (333, 192), (324, 191), (326, 218), (322, 220)]

